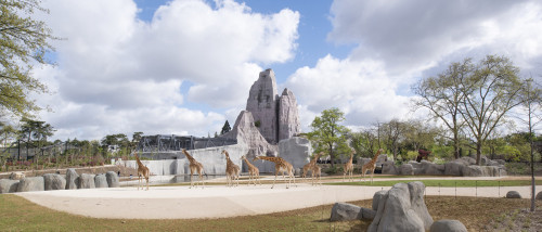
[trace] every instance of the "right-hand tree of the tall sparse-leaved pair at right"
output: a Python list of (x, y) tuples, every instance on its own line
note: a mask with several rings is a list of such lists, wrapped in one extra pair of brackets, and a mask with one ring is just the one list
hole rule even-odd
[(461, 82), (464, 101), (460, 113), (474, 139), (477, 165), (483, 142), (506, 123), (509, 111), (524, 102), (524, 83), (518, 73), (519, 68), (507, 57), (488, 55)]

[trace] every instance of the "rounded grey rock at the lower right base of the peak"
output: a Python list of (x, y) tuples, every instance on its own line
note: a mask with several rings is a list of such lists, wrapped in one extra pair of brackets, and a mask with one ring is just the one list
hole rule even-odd
[(279, 155), (294, 168), (302, 168), (310, 162), (312, 146), (308, 139), (295, 137), (279, 142)]

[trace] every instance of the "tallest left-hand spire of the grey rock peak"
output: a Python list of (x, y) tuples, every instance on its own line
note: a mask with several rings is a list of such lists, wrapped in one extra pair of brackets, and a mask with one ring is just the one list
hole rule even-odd
[(270, 143), (278, 142), (276, 133), (276, 81), (274, 72), (260, 72), (258, 80), (250, 87), (246, 111), (253, 113), (254, 121), (260, 121), (259, 131)]

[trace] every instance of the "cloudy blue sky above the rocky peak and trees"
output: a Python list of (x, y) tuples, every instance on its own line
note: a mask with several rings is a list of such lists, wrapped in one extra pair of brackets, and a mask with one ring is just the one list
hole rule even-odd
[(505, 55), (542, 75), (542, 2), (525, 0), (44, 0), (56, 65), (52, 139), (207, 137), (233, 126), (259, 72), (297, 98), (304, 131), (324, 109), (362, 128), (423, 118), (411, 86), (452, 62)]

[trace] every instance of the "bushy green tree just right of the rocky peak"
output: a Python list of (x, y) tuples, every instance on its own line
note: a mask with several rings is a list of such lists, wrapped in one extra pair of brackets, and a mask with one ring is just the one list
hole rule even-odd
[(332, 167), (334, 159), (338, 154), (349, 152), (347, 144), (348, 128), (339, 125), (345, 120), (345, 114), (338, 108), (333, 107), (322, 112), (322, 116), (317, 116), (310, 127), (308, 138), (314, 142), (315, 153), (325, 151), (330, 155)]

